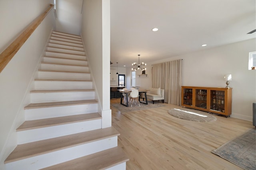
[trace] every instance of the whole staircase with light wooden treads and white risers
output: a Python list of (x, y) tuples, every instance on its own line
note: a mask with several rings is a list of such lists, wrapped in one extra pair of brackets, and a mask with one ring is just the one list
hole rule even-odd
[(102, 129), (92, 86), (81, 37), (52, 31), (6, 170), (125, 169), (120, 134)]

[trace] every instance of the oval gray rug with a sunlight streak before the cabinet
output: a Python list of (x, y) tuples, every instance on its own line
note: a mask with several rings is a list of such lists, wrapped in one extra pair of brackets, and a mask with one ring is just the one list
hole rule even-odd
[(210, 113), (206, 113), (204, 111), (199, 111), (195, 109), (170, 109), (168, 113), (174, 117), (188, 121), (209, 122), (217, 120), (216, 117), (211, 115)]

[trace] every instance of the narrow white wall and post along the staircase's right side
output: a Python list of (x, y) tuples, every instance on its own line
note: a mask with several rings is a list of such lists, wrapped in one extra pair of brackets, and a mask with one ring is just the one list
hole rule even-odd
[(83, 1), (82, 38), (101, 107), (102, 127), (110, 127), (110, 0)]

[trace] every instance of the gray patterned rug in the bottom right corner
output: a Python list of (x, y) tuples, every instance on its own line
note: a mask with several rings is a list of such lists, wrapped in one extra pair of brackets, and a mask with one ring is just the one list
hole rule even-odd
[(256, 128), (228, 141), (212, 153), (245, 169), (256, 170)]

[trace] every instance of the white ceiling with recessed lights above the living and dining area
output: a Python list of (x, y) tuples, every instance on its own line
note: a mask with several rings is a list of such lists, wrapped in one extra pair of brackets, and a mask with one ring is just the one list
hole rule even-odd
[(138, 54), (152, 63), (255, 38), (246, 34), (256, 28), (255, 7), (255, 0), (110, 0), (110, 60), (130, 67)]

